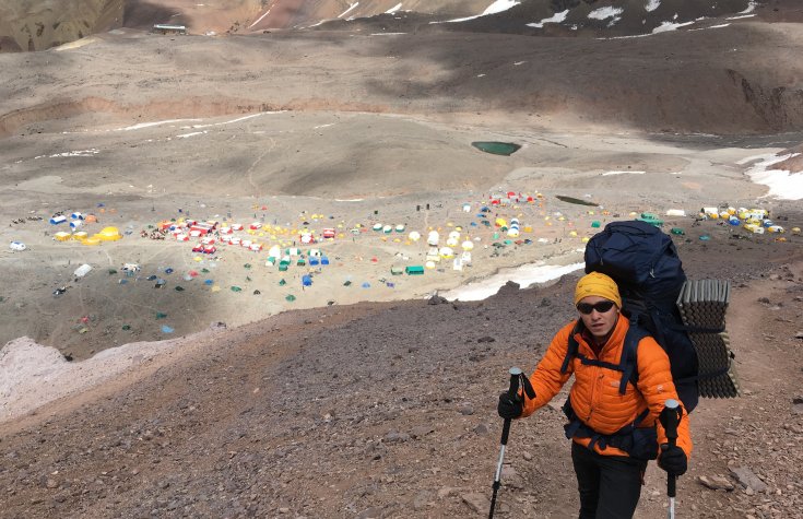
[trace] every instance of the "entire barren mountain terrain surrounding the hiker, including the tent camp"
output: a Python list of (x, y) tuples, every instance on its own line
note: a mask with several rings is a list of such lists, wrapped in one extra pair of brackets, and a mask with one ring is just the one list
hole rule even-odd
[[(803, 518), (800, 2), (54, 5), (0, 3), (0, 516), (487, 517), (508, 368), (643, 215), (733, 288), (678, 517)], [(495, 517), (576, 517), (559, 403)]]

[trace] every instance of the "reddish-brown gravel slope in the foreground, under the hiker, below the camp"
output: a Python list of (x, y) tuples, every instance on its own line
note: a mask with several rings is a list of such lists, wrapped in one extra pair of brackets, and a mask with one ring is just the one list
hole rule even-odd
[[(723, 233), (678, 246), (689, 276), (733, 283), (744, 396), (695, 411), (677, 507), (801, 517), (801, 251)], [(571, 317), (572, 283), (507, 286), (481, 303), (335, 306), (216, 332), (3, 424), (3, 516), (480, 517), (498, 452), (496, 394), (507, 368), (531, 369)], [(498, 517), (574, 516), (558, 405), (513, 424)], [(664, 514), (664, 488), (652, 467), (637, 517)]]

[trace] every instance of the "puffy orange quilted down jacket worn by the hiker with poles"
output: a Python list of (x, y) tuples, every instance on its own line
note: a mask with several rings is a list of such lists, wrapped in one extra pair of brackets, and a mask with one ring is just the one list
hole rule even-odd
[[(577, 416), (587, 426), (603, 435), (613, 434), (633, 423), (649, 406), (649, 414), (638, 426), (657, 426), (658, 443), (666, 443), (666, 435), (658, 417), (666, 399), (677, 401), (680, 399), (672, 382), (669, 357), (663, 349), (651, 337), (641, 339), (636, 355), (639, 374), (638, 387), (634, 387), (633, 384), (628, 382), (625, 394), (621, 394), (622, 371), (601, 366), (583, 365), (579, 358), (575, 357), (569, 363), (567, 371), (565, 374), (560, 373), (560, 366), (568, 350), (569, 333), (575, 332), (576, 323), (577, 321), (568, 323), (555, 334), (546, 350), (546, 354), (530, 377), (530, 382), (535, 390), (535, 398), (532, 400), (526, 399), (522, 416), (531, 415), (535, 410), (552, 400), (574, 374), (575, 382), (569, 391), (569, 398)], [(575, 339), (579, 344), (578, 353), (588, 358), (598, 358), (618, 365), (625, 334), (629, 327), (630, 323), (627, 319), (617, 319), (613, 333), (602, 346), (599, 356), (594, 354), (587, 339), (581, 333), (575, 332)], [(572, 438), (572, 440), (584, 447), (588, 447), (591, 441), (590, 438), (578, 437)], [(677, 446), (686, 452), (686, 457), (689, 457), (692, 453), (692, 437), (688, 428), (688, 415), (685, 410), (677, 426)], [(601, 455), (627, 456), (627, 452), (610, 445), (602, 449), (598, 444), (594, 446), (594, 450)]]

